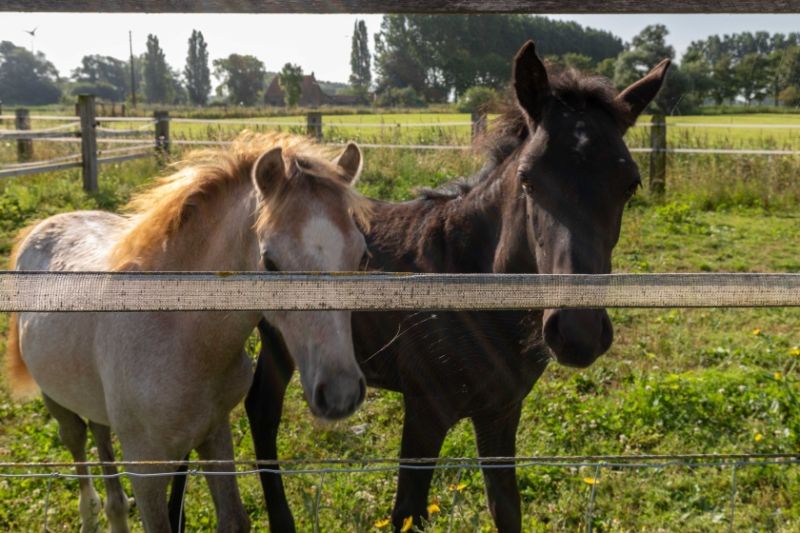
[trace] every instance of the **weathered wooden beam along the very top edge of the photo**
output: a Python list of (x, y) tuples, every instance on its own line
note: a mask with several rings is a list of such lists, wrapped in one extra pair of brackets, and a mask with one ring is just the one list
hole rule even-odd
[(3, 0), (0, 11), (106, 13), (800, 13), (800, 0)]

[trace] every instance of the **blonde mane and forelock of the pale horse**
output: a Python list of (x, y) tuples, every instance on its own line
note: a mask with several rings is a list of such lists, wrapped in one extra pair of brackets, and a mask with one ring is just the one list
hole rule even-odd
[(299, 135), (244, 131), (229, 147), (188, 153), (171, 165), (175, 169), (172, 174), (159, 178), (154, 186), (133, 197), (125, 207), (133, 223), (112, 250), (110, 268), (148, 269), (166, 240), (181, 228), (192, 207), (249, 183), (258, 157), (277, 147), (283, 150), (288, 174), (297, 164), (313, 175), (305, 174), (309, 180), (287, 180), (269, 198), (262, 199), (257, 213), (258, 230), (278, 224), (289, 211), (284, 201), (288, 192), (307, 187), (309, 182), (341, 196), (355, 220), (362, 227), (368, 226), (368, 200), (355, 192), (342, 169), (331, 163), (334, 149)]

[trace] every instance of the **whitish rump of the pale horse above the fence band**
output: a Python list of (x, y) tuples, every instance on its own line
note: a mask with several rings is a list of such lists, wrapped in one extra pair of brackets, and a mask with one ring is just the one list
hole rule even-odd
[(17, 270), (105, 270), (127, 219), (105, 211), (49, 217), (20, 243)]

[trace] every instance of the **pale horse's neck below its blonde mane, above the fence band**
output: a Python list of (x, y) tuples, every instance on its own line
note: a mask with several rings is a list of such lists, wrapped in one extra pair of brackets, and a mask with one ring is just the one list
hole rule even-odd
[(153, 270), (247, 271), (258, 265), (256, 200), (238, 187), (198, 205), (166, 242)]

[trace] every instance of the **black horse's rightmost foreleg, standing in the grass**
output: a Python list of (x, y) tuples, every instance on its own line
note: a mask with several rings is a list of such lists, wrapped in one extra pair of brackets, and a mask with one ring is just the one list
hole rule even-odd
[[(517, 426), (522, 404), (499, 413), (498, 417), (472, 419), (481, 457), (513, 457), (516, 455)], [(494, 465), (494, 467), (492, 466)], [(509, 465), (497, 468), (497, 465)], [(500, 533), (516, 533), (522, 529), (519, 488), (513, 462), (487, 463), (483, 468), (489, 511)]]

